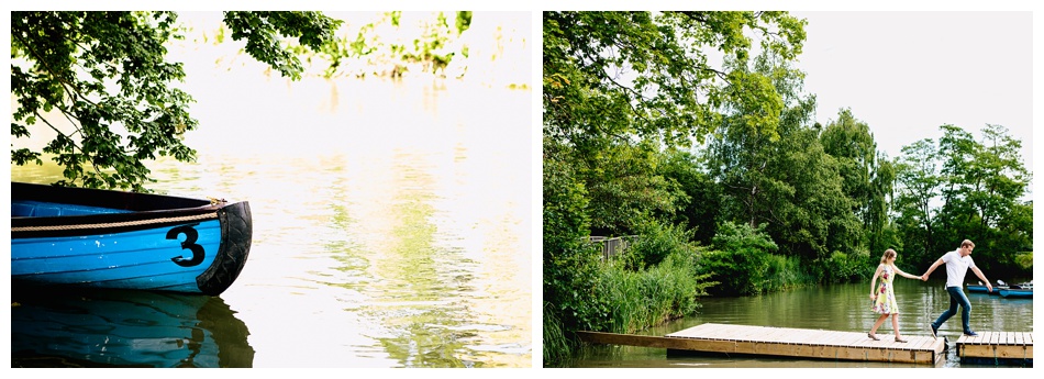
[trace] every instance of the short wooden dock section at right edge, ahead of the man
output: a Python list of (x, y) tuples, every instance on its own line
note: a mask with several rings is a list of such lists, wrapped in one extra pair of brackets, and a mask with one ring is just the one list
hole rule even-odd
[(957, 338), (962, 363), (1033, 365), (1032, 332), (978, 332), (977, 337)]

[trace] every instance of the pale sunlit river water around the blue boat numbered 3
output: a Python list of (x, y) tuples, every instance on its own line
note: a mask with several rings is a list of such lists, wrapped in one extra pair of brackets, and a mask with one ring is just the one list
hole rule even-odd
[(193, 114), (198, 161), (160, 159), (147, 186), (249, 201), (236, 282), (208, 299), (12, 294), (12, 366), (531, 367), (531, 91), (254, 86), (195, 91), (220, 104)]

